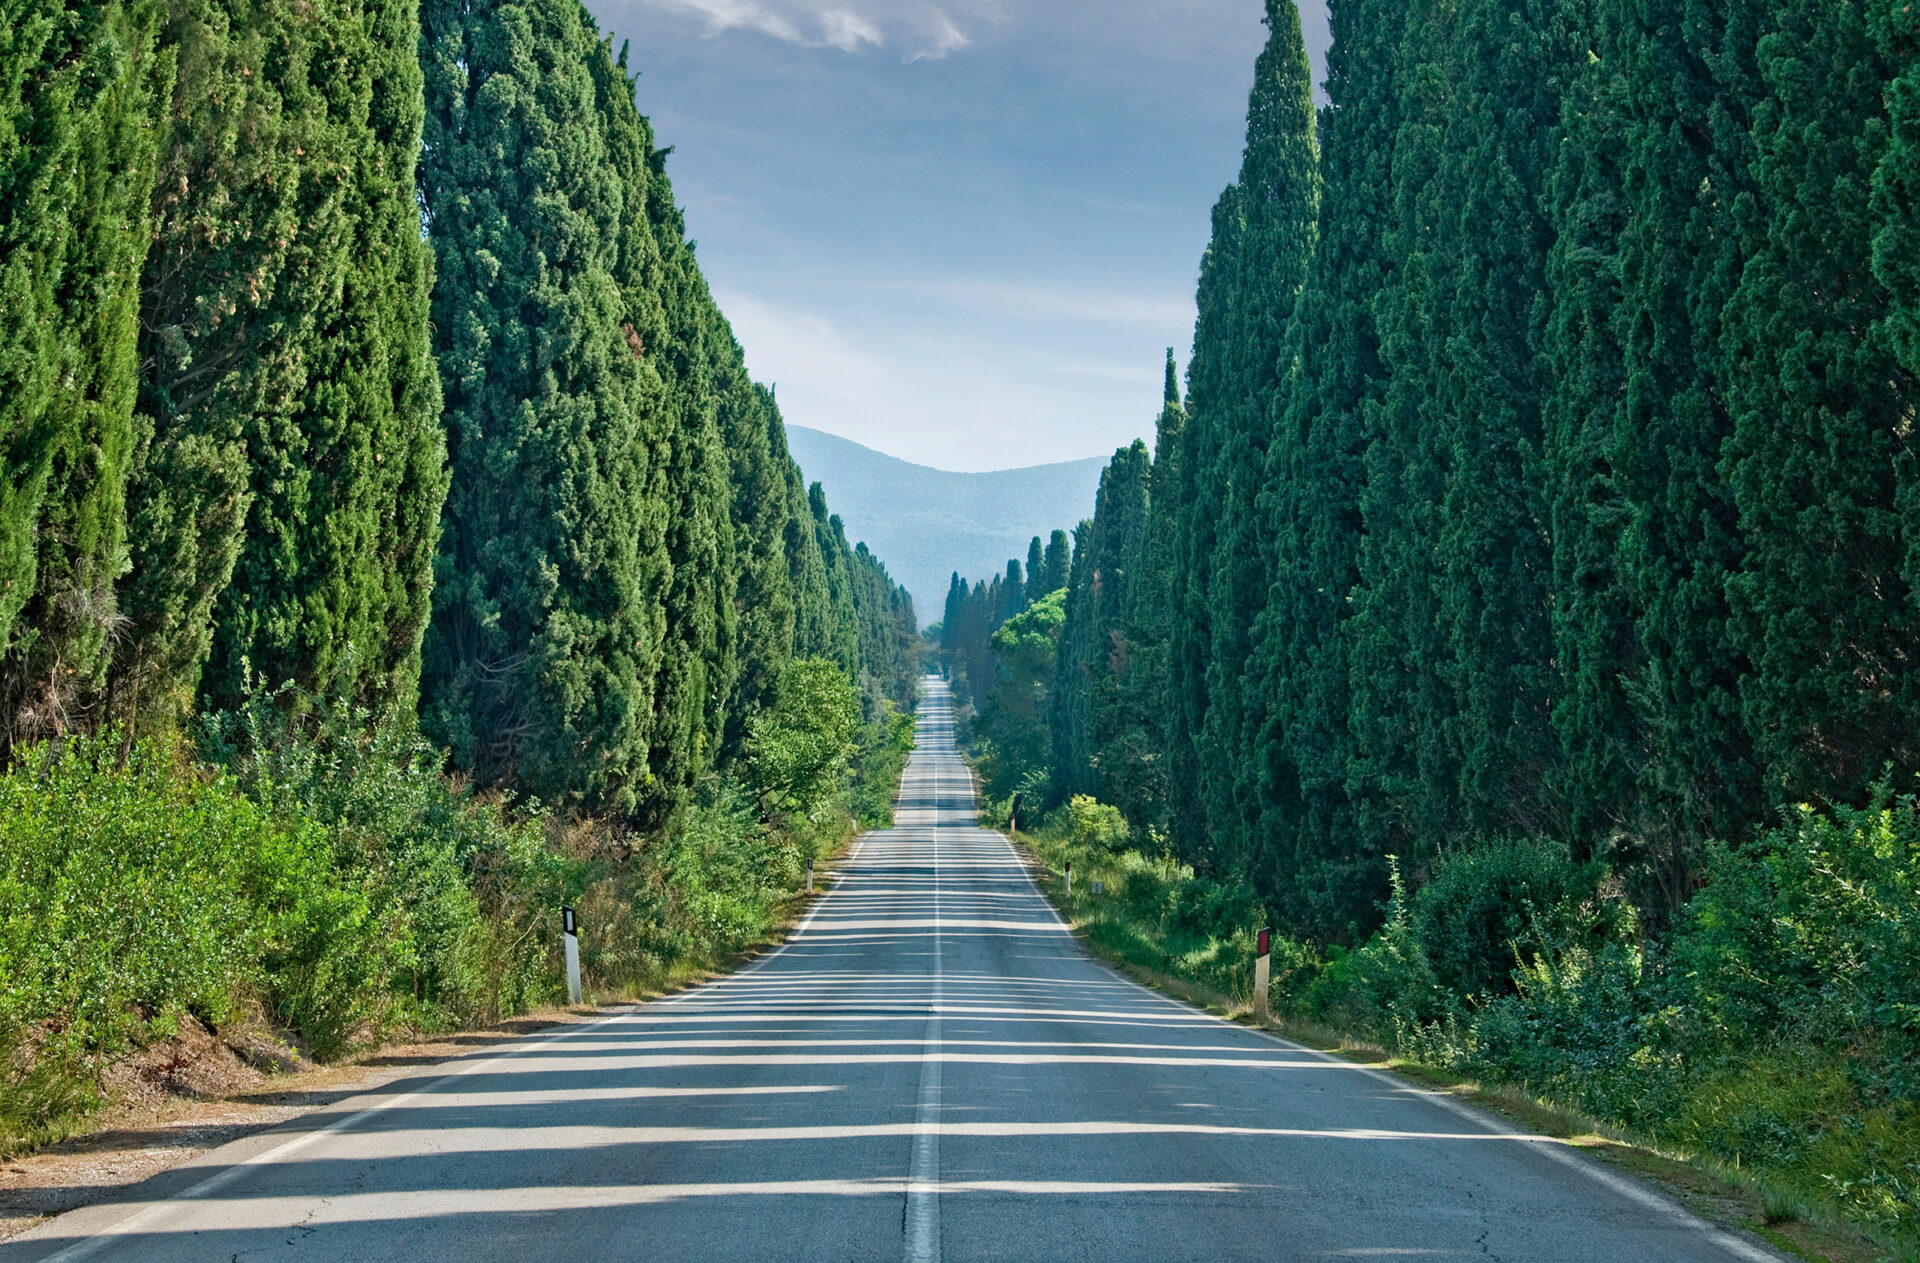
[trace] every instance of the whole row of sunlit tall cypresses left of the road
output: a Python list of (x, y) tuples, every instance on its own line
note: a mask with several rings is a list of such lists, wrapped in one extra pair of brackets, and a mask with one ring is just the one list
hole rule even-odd
[(292, 683), (660, 820), (912, 687), (578, 0), (0, 4), (0, 724)]

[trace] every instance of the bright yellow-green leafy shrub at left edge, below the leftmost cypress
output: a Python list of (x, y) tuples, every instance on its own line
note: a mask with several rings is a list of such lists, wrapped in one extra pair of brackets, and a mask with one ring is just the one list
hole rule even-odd
[(321, 837), (119, 733), (27, 749), (0, 777), (0, 1029), (98, 1060), (180, 1013), (225, 1021), (326, 902)]

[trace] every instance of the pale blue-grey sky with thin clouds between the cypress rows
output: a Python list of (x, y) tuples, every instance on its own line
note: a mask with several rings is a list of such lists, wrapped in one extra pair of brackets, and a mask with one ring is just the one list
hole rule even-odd
[[(588, 0), (787, 420), (993, 470), (1152, 438), (1261, 0)], [(1315, 79), (1327, 21), (1306, 13)]]

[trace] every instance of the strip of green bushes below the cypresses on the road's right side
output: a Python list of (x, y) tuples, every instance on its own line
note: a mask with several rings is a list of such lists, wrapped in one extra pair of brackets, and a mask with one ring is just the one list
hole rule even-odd
[[(1008, 823), (1008, 800), (983, 820)], [(1246, 1004), (1267, 919), (1075, 797), (1020, 833), (1102, 956)], [(1100, 885), (1100, 893), (1094, 891)], [(1920, 1257), (1920, 802), (1801, 808), (1659, 937), (1603, 864), (1523, 841), (1396, 870), (1354, 946), (1273, 942), (1277, 1015), (1574, 1111), (1751, 1188), (1764, 1219), (1849, 1225)], [(1764, 1225), (1763, 1225), (1764, 1227)], [(1864, 1255), (1862, 1255), (1864, 1257)]]

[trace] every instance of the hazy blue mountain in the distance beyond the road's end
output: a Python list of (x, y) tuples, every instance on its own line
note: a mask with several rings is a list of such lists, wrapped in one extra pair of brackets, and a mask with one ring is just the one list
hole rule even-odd
[(847, 537), (866, 541), (895, 582), (914, 593), (920, 626), (941, 620), (947, 582), (958, 570), (983, 580), (1027, 559), (1027, 541), (1071, 532), (1092, 516), (1106, 457), (993, 474), (950, 474), (804, 426), (787, 426), (787, 447), (806, 482), (828, 489)]

